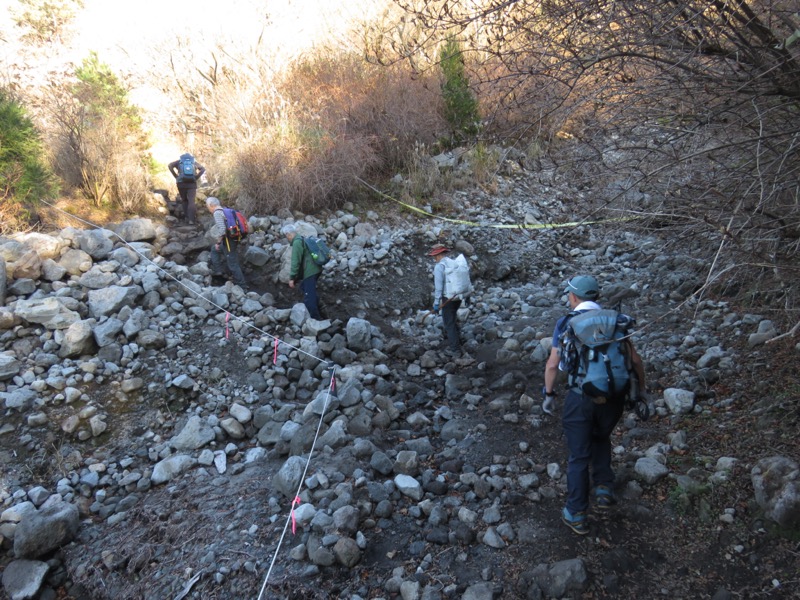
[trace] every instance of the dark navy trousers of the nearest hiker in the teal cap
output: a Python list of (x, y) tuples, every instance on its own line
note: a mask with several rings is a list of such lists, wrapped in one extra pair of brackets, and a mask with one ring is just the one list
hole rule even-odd
[(594, 485), (612, 487), (614, 484), (611, 432), (623, 409), (622, 402), (595, 404), (580, 392), (567, 392), (561, 423), (569, 448), (567, 510), (573, 515), (589, 508), (590, 469)]

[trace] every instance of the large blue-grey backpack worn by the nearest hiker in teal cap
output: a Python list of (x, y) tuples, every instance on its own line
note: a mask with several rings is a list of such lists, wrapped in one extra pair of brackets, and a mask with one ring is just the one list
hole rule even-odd
[(569, 386), (598, 400), (625, 400), (633, 369), (627, 338), (635, 324), (615, 310), (569, 315), (559, 339), (559, 366), (569, 374)]

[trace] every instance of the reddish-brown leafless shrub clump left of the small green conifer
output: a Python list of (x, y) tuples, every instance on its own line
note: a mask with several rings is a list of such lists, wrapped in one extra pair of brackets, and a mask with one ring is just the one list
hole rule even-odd
[[(257, 139), (223, 151), (231, 195), (250, 212), (334, 208), (356, 193), (358, 178), (396, 172), (420, 141), (444, 131), (433, 81), (349, 51), (305, 57), (277, 86), (277, 116)], [(272, 100), (261, 98), (264, 106)]]

